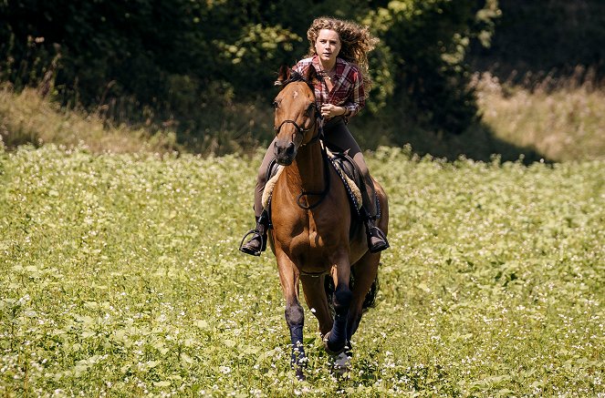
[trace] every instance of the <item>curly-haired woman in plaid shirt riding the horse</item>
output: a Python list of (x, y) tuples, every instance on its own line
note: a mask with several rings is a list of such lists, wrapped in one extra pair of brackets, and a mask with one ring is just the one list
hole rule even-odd
[[(349, 151), (360, 169), (365, 181), (361, 189), (362, 219), (365, 224), (370, 252), (379, 252), (389, 247), (384, 232), (376, 226), (378, 215), (376, 193), (370, 171), (361, 153), (360, 146), (347, 128), (350, 117), (357, 115), (365, 106), (366, 86), (370, 83), (367, 73), (367, 53), (378, 41), (370, 35), (368, 29), (348, 21), (320, 17), (308, 28), (310, 56), (300, 60), (294, 70), (306, 75), (308, 68), (315, 68), (321, 77), (314, 84), (315, 98), (324, 118), (324, 143), (335, 151)], [(362, 75), (361, 70), (365, 74)], [(266, 250), (266, 232), (268, 215), (262, 206), (262, 196), (266, 185), (267, 168), (275, 158), (276, 139), (266, 151), (265, 158), (258, 170), (255, 191), (256, 228), (252, 238), (240, 247), (246, 254), (259, 256)]]

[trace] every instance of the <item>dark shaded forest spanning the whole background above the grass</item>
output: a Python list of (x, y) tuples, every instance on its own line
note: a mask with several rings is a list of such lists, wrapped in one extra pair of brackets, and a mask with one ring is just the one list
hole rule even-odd
[(605, 76), (601, 0), (0, 0), (0, 80), (110, 124), (172, 128), (193, 151), (255, 146), (271, 135), (276, 70), (308, 53), (318, 15), (381, 39), (356, 121), (370, 148), (476, 128), (475, 71), (528, 87)]

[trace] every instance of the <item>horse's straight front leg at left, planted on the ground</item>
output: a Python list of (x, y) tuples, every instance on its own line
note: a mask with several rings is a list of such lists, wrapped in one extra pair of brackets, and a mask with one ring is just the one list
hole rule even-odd
[(298, 301), (298, 272), (294, 263), (283, 252), (277, 255), (277, 268), (279, 270), (279, 281), (284, 299), (286, 299), (286, 322), (290, 330), (290, 341), (292, 342), (291, 365), (297, 372), (297, 378), (305, 379), (303, 372), (307, 364), (307, 357), (303, 347), (303, 326), (305, 313), (300, 301)]

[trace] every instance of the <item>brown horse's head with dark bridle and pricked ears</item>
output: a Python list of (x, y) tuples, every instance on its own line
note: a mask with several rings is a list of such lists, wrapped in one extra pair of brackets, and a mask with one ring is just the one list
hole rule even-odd
[(298, 148), (318, 138), (321, 116), (313, 90), (318, 77), (315, 68), (309, 67), (308, 71), (302, 76), (282, 67), (276, 81), (282, 87), (273, 102), (277, 137), (274, 153), (280, 165), (290, 165)]

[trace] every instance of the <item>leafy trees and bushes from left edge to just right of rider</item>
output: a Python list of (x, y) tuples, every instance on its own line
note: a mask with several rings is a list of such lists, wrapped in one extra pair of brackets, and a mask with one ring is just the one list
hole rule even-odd
[(382, 39), (370, 110), (394, 102), (457, 131), (473, 116), (465, 49), (475, 36), (485, 41), (496, 11), (494, 0), (16, 0), (0, 4), (0, 79), (17, 90), (49, 86), (62, 104), (98, 108), (115, 123), (169, 122), (180, 137), (203, 140), (216, 106), (268, 103), (278, 67), (307, 54), (310, 21), (335, 15)]

